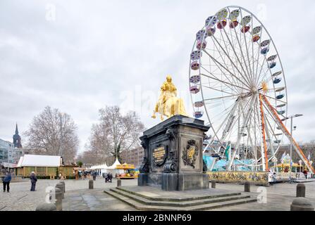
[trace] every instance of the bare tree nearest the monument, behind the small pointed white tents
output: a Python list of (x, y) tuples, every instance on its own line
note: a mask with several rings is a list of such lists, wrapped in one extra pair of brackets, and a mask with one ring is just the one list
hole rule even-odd
[(121, 152), (140, 146), (144, 124), (135, 112), (121, 115), (118, 106), (106, 106), (99, 110), (99, 115), (99, 124), (92, 126), (89, 155), (97, 156), (95, 162), (104, 162), (110, 155), (121, 162)]

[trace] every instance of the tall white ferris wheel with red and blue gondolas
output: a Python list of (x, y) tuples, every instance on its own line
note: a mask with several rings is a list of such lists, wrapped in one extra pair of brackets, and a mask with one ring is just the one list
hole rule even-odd
[(206, 18), (190, 54), (189, 83), (194, 117), (211, 126), (206, 148), (229, 170), (235, 160), (268, 170), (285, 133), (288, 98), (280, 56), (259, 19), (240, 6)]

